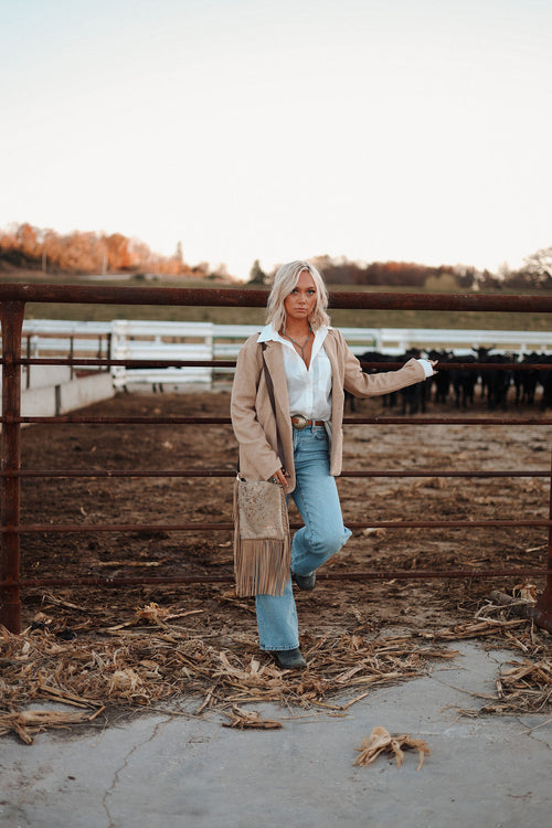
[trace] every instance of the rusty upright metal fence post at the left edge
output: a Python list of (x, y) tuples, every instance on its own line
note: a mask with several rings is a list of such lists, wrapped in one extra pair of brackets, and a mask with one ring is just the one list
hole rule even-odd
[[(21, 467), (21, 331), (25, 306), (22, 301), (4, 301), (0, 307), (2, 326), (2, 471), (19, 471)], [(2, 476), (0, 556), (0, 624), (11, 633), (21, 633), (21, 598), (19, 592), (19, 526), (21, 481), (19, 477)]]

